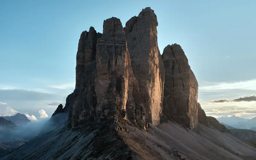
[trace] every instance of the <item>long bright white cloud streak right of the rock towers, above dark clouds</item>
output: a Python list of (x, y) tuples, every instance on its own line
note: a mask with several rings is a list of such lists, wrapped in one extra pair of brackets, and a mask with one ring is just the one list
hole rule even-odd
[(222, 92), (227, 90), (256, 90), (256, 79), (237, 82), (207, 83), (199, 86), (199, 92)]

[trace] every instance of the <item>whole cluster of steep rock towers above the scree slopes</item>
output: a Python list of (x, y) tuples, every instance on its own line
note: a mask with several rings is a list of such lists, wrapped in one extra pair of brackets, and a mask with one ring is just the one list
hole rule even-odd
[(198, 83), (178, 44), (161, 55), (156, 14), (150, 7), (128, 20), (104, 20), (103, 34), (82, 32), (76, 54), (76, 88), (53, 116), (69, 112), (68, 126), (105, 122), (147, 129), (167, 120), (198, 125)]

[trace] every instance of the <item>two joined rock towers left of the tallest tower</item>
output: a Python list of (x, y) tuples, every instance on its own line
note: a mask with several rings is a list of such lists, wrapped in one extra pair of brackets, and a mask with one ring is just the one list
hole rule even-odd
[(132, 72), (121, 21), (115, 17), (104, 20), (102, 36), (99, 33), (96, 36), (96, 31), (88, 34), (92, 36), (87, 37), (98, 38), (97, 44), (94, 45), (92, 38), (89, 41), (92, 48), (86, 49), (89, 42), (80, 37), (76, 83), (81, 84), (76, 84), (77, 96), (69, 114), (69, 127), (122, 121), (147, 127), (147, 114)]

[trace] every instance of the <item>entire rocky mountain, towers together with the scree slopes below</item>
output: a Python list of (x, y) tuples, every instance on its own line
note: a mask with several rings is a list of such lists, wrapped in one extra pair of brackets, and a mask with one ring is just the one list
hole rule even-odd
[(157, 17), (142, 9), (123, 28), (83, 31), (76, 87), (41, 133), (3, 159), (253, 160), (256, 148), (207, 117), (178, 44), (157, 44)]

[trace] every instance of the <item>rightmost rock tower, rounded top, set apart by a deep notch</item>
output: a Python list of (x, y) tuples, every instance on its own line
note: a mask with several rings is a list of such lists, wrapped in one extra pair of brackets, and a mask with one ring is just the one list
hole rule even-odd
[(166, 46), (162, 57), (165, 69), (164, 96), (169, 108), (166, 115), (193, 129), (198, 124), (196, 77), (180, 45)]

